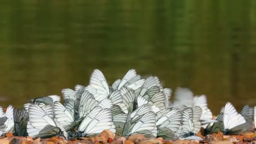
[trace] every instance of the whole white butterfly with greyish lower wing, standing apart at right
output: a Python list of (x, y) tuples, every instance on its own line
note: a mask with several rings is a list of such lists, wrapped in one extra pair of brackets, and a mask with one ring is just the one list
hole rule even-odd
[(225, 134), (240, 134), (245, 132), (247, 127), (242, 124), (245, 123), (245, 118), (238, 114), (235, 107), (228, 102), (224, 107), (223, 126)]

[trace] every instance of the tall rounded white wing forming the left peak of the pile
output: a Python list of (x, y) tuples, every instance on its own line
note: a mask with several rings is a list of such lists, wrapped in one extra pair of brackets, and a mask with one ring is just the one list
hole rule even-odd
[(107, 98), (110, 94), (107, 80), (99, 69), (93, 71), (90, 83), (85, 90), (92, 93), (97, 101)]

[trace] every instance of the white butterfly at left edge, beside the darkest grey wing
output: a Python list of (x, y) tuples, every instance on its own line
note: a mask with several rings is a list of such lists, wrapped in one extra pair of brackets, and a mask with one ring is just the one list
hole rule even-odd
[(5, 112), (5, 117), (7, 117), (7, 120), (5, 121), (4, 125), (5, 128), (0, 129), (0, 134), (3, 135), (7, 132), (13, 132), (14, 131), (14, 122), (13, 122), (13, 106), (9, 105)]

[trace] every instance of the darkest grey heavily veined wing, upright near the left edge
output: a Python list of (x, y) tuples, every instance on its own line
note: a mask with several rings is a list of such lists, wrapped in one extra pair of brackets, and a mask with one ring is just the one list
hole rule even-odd
[(14, 130), (16, 136), (27, 136), (27, 122), (29, 120), (26, 110), (13, 109)]

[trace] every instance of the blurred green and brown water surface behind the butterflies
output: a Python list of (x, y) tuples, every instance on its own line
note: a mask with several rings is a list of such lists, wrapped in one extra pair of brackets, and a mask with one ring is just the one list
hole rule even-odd
[(109, 83), (131, 68), (165, 87), (256, 104), (255, 0), (1, 0), (0, 105)]

